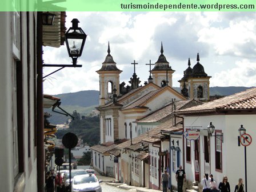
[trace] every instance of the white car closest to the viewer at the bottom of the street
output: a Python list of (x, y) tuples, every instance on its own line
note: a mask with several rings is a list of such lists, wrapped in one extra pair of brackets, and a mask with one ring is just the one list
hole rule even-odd
[(86, 192), (95, 191), (102, 192), (101, 183), (94, 174), (77, 175), (73, 178), (72, 191), (73, 192)]

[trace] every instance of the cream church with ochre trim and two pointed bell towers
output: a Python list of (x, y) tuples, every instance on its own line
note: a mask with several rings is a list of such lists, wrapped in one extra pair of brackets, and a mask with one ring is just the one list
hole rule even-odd
[[(134, 64), (134, 73), (129, 81), (130, 86), (125, 86), (124, 82), (120, 83), (119, 75), (122, 71), (118, 69), (117, 63), (110, 54), (110, 46), (108, 46), (105, 61), (101, 69), (96, 71), (99, 74), (100, 88), (97, 109), (100, 111), (101, 144), (91, 149), (93, 150), (94, 169), (99, 173), (115, 175), (116, 179), (121, 179), (120, 175), (126, 177), (125, 173), (131, 174), (131, 170), (127, 169), (127, 166), (131, 166), (127, 159), (119, 158), (118, 166), (116, 166), (117, 163), (114, 163), (110, 157), (113, 157), (111, 154), (120, 143), (127, 141), (133, 145), (134, 139), (142, 133), (136, 121), (170, 105), (173, 101), (189, 99), (186, 94), (178, 93), (172, 87), (172, 75), (175, 70), (163, 54), (162, 43), (160, 52), (152, 70), (150, 65), (150, 77), (144, 86), (139, 85), (141, 81), (135, 73), (137, 64), (135, 61), (131, 63)], [(197, 77), (197, 80), (199, 79), (201, 78)], [(192, 98), (197, 99), (196, 96)], [(120, 151), (118, 157), (121, 157)], [(128, 184), (131, 182), (129, 177), (123, 179)]]

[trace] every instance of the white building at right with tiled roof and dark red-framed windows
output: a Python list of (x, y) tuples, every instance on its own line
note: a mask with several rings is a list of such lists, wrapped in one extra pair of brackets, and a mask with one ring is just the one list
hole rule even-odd
[[(238, 129), (243, 125), (246, 133), (253, 139), (246, 147), (246, 156), (247, 191), (254, 191), (255, 101), (256, 88), (253, 88), (201, 106), (177, 111), (177, 114), (184, 116), (184, 131), (193, 129), (201, 134), (195, 141), (185, 139), (184, 142), (185, 171), (189, 181), (201, 182), (203, 174), (211, 173), (218, 183), (227, 175), (231, 191), (239, 178), (243, 178), (245, 183), (245, 147), (238, 146)], [(210, 122), (215, 126), (212, 136), (207, 132)]]

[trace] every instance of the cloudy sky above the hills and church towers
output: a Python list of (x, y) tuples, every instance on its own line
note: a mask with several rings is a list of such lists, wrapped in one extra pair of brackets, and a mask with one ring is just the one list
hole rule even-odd
[[(66, 27), (77, 18), (87, 34), (81, 68), (65, 68), (47, 77), (45, 94), (99, 90), (95, 72), (101, 68), (110, 42), (111, 55), (122, 70), (120, 82), (130, 80), (133, 65), (142, 83), (149, 66), (163, 54), (175, 73), (173, 86), (196, 63), (197, 53), (213, 86), (256, 86), (256, 13), (250, 12), (67, 12)], [(66, 46), (43, 47), (45, 63), (71, 63)], [(45, 67), (47, 75), (55, 67)], [(58, 68), (55, 68), (58, 69)]]

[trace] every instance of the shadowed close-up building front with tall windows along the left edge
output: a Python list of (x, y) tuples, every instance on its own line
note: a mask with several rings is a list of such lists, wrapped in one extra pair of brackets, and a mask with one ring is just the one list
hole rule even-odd
[(1, 12), (0, 23), (0, 186), (5, 191), (44, 191), (41, 13)]

